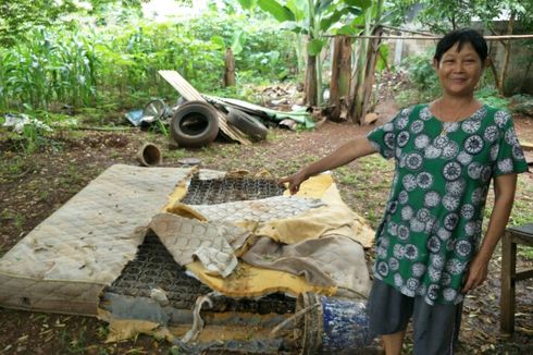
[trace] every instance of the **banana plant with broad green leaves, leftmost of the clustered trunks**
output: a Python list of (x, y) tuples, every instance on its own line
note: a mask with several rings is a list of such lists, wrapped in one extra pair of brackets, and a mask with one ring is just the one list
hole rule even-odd
[(310, 106), (322, 105), (322, 61), (320, 53), (332, 29), (351, 33), (350, 24), (372, 5), (371, 0), (238, 0), (244, 9), (259, 7), (285, 29), (307, 36), (306, 99)]

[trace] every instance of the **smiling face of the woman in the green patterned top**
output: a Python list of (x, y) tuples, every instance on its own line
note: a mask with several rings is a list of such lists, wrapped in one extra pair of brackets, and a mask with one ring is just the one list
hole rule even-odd
[(448, 49), (441, 61), (433, 61), (433, 66), (446, 94), (453, 96), (471, 96), (483, 73), (484, 63), (471, 44), (464, 42), (460, 51), (459, 44)]

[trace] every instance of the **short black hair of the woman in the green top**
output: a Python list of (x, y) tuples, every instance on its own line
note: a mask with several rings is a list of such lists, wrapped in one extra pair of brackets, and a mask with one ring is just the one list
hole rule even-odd
[(457, 51), (460, 51), (464, 44), (472, 45), (478, 56), (480, 56), (482, 62), (484, 62), (486, 57), (488, 56), (486, 41), (479, 32), (472, 28), (460, 28), (453, 30), (441, 38), (437, 44), (437, 48), (435, 49), (435, 56), (433, 58), (437, 62), (441, 62), (444, 53), (456, 44), (458, 44)]

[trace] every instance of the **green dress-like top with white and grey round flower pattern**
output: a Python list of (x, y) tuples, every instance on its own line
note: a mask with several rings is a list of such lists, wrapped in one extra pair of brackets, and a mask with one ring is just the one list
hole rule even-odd
[(508, 112), (443, 123), (418, 105), (368, 134), (396, 171), (376, 232), (374, 277), (430, 305), (458, 304), (493, 176), (528, 170)]

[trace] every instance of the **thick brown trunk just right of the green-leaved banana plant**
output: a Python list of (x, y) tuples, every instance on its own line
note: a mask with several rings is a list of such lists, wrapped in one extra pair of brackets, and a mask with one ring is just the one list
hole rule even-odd
[(332, 79), (330, 83), (330, 101), (333, 106), (330, 119), (346, 120), (346, 96), (350, 89), (351, 75), (351, 39), (336, 36), (332, 59)]

